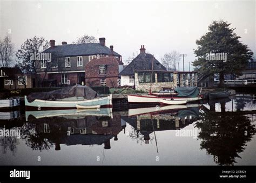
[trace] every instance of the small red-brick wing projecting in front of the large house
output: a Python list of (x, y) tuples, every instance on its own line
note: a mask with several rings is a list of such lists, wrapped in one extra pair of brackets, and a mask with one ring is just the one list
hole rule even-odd
[(92, 59), (85, 65), (85, 85), (117, 87), (120, 64), (113, 56)]

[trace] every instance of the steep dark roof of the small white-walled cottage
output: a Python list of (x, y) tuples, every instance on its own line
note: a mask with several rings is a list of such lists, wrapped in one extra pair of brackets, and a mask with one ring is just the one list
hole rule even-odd
[[(149, 53), (140, 53), (134, 58), (125, 69), (119, 73), (119, 75), (133, 75), (134, 70), (152, 70), (152, 58), (153, 55)], [(167, 69), (161, 65), (161, 63), (154, 58), (153, 71), (167, 71)]]

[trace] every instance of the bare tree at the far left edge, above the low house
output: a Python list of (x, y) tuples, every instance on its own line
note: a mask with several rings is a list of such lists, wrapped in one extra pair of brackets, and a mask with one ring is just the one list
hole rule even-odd
[(5, 36), (4, 40), (0, 39), (0, 56), (2, 67), (10, 67), (12, 65), (12, 55), (14, 54), (14, 44), (11, 43), (11, 37)]

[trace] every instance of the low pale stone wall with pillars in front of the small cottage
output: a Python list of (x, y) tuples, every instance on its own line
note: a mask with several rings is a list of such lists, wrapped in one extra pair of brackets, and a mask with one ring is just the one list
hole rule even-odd
[[(159, 91), (163, 90), (163, 88), (175, 88), (177, 87), (177, 73), (173, 73), (173, 82), (157, 82), (157, 73), (155, 73), (156, 82), (152, 83), (151, 90), (152, 91)], [(150, 90), (150, 83), (139, 83), (138, 80), (138, 73), (134, 73), (135, 79), (135, 88), (137, 90)]]

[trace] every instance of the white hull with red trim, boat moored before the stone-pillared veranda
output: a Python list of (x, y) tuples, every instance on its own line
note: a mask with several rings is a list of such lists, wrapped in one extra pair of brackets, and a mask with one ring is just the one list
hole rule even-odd
[(170, 100), (173, 98), (174, 101), (183, 101), (187, 102), (198, 101), (203, 97), (156, 97), (152, 95), (127, 95), (129, 103), (160, 103), (161, 100)]

